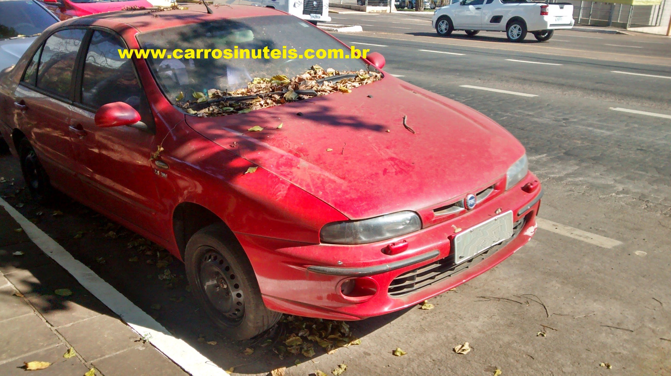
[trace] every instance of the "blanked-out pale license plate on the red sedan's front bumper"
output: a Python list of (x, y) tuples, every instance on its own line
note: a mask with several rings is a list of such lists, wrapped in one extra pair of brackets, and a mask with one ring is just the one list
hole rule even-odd
[(454, 237), (454, 264), (474, 258), (511, 236), (513, 236), (512, 211), (506, 211), (466, 229)]

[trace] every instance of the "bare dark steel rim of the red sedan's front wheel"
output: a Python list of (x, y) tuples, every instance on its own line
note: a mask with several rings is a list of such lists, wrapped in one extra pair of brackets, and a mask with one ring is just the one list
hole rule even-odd
[(231, 324), (242, 321), (245, 315), (242, 281), (219, 252), (208, 247), (197, 277), (199, 288), (212, 308)]

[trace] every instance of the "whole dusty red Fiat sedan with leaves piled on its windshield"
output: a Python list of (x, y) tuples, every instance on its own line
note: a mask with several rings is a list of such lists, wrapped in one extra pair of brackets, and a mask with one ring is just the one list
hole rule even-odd
[[(0, 130), (36, 199), (54, 187), (167, 248), (238, 339), (280, 312), (359, 320), (401, 310), (533, 236), (542, 192), (522, 145), (479, 112), (384, 74), (380, 54), (119, 58), (123, 48), (349, 51), (275, 9), (212, 12), (107, 13), (42, 33), (0, 78)], [(382, 78), (226, 116), (178, 102), (207, 106), (212, 88), (282, 81), (314, 64)]]

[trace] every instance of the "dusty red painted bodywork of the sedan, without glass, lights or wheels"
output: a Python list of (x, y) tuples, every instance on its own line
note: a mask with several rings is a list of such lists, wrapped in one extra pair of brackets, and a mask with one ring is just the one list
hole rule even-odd
[[(135, 35), (140, 31), (278, 14), (273, 9), (234, 6), (215, 8), (208, 15), (204, 7), (203, 12), (193, 10), (197, 7), (172, 11), (170, 17), (124, 12), (71, 19), (45, 31), (40, 40), (57, 27), (96, 25), (117, 31), (129, 48), (138, 48)], [(156, 122), (156, 134), (150, 134), (126, 126), (99, 128), (89, 112), (51, 98), (26, 96), (29, 89), (24, 86), (17, 90), (38, 43), (0, 80), (0, 110), (8, 114), (0, 130), (8, 143), (13, 147), (12, 131), (23, 132), (56, 187), (178, 258), (174, 209), (185, 202), (209, 209), (234, 231), (271, 309), (348, 320), (393, 312), (474, 278), (533, 235), (539, 203), (519, 217), (517, 212), (539, 195), (540, 189), (530, 193), (522, 189), (537, 178), (529, 173), (505, 191), (505, 173), (523, 155), (522, 145), (479, 112), (391, 75), (349, 94), (248, 114), (197, 118), (174, 108), (156, 86), (146, 62), (136, 60)], [(20, 99), (28, 106), (25, 112), (13, 104)], [(403, 116), (417, 133), (404, 128)], [(282, 128), (277, 128), (280, 123)], [(72, 124), (81, 124), (85, 135), (68, 131)], [(248, 132), (255, 125), (264, 130)], [(169, 165), (168, 170), (159, 170), (150, 161), (158, 145), (164, 148), (159, 159)], [(254, 166), (260, 168), (244, 174)], [(468, 212), (433, 214), (437, 207), (492, 185), (494, 193)], [(319, 230), (326, 223), (401, 210), (419, 213), (423, 229), (373, 244), (320, 244)], [(450, 255), (456, 228), (468, 229), (508, 210), (513, 211), (513, 220), (524, 217), (526, 222), (507, 246), (461, 274), (403, 298), (386, 293), (399, 274)], [(389, 244), (401, 242), (407, 242), (407, 248), (383, 252)], [(307, 270), (307, 266), (378, 266), (433, 250), (440, 256), (366, 278), (366, 286), (377, 286), (377, 293), (364, 298), (340, 293), (346, 277)]]

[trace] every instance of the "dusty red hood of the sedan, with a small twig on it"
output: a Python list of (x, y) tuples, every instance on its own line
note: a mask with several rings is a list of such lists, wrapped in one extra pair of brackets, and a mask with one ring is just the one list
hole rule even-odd
[[(501, 179), (524, 153), (493, 120), (391, 75), (348, 94), (187, 123), (350, 219), (463, 197)], [(256, 125), (264, 130), (248, 131)]]

